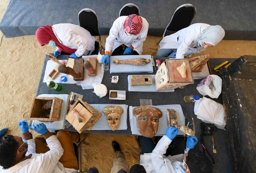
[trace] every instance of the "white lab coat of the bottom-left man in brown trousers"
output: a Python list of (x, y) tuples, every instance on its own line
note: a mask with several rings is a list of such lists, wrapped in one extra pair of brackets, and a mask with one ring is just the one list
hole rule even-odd
[(36, 144), (34, 139), (27, 140), (28, 151), (26, 155), (32, 154), (28, 158), (9, 169), (0, 169), (0, 173), (77, 173), (75, 169), (64, 168), (59, 162), (63, 155), (63, 148), (55, 135), (46, 139), (50, 151), (44, 154), (36, 154)]

